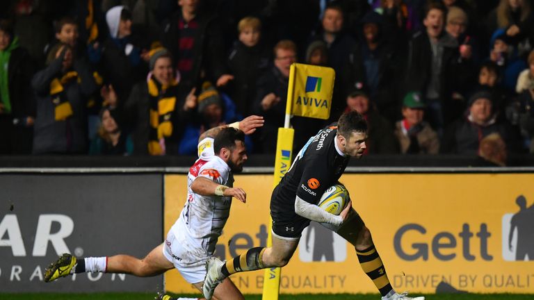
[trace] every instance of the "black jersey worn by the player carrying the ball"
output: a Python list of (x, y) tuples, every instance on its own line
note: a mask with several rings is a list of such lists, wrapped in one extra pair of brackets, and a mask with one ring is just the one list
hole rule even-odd
[(337, 126), (328, 126), (300, 149), (271, 198), (273, 219), (296, 217), (296, 196), (317, 204), (323, 192), (339, 181), (350, 156), (339, 154), (334, 144), (336, 136)]

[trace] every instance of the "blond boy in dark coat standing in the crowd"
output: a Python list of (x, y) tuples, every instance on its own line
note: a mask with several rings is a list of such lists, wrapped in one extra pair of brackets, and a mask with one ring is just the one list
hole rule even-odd
[(245, 17), (238, 24), (239, 38), (228, 57), (231, 82), (230, 95), (242, 115), (250, 114), (256, 93), (258, 76), (268, 67), (268, 52), (261, 40), (261, 22), (256, 17)]

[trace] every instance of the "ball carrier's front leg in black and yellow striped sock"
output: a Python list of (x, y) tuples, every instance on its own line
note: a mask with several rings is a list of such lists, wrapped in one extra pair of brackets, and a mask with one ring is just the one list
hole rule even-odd
[(398, 294), (395, 292), (389, 278), (387, 277), (386, 268), (382, 259), (375, 248), (371, 231), (364, 224), (364, 221), (354, 209), (350, 210), (350, 215), (346, 222), (336, 231), (347, 242), (353, 244), (358, 257), (359, 265), (365, 274), (371, 278), (376, 288), (382, 295), (382, 300), (424, 300), (425, 297), (407, 297), (407, 294)]

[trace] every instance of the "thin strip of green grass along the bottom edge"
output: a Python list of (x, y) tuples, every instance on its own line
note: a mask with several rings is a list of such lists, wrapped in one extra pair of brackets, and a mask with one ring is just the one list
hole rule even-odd
[[(2, 300), (151, 300), (155, 294), (142, 293), (95, 293), (95, 294), (1, 294)], [(179, 295), (198, 297), (199, 295)], [(413, 294), (412, 296), (421, 296)], [(526, 300), (533, 294), (430, 294), (427, 300)], [(247, 300), (260, 300), (261, 295), (245, 295)], [(379, 300), (378, 294), (282, 294), (280, 300)]]

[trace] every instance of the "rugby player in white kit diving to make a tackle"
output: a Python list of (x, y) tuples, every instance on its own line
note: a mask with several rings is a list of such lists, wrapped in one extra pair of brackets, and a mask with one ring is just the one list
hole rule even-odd
[[(263, 124), (263, 117), (250, 116), (230, 126), (211, 128), (200, 135), (199, 158), (189, 169), (184, 209), (170, 228), (165, 242), (145, 258), (120, 254), (81, 259), (65, 253), (47, 267), (44, 281), (88, 272), (156, 276), (176, 268), (188, 283), (202, 290), (207, 261), (213, 256), (229, 217), (232, 197), (243, 203), (246, 201), (245, 191), (233, 187), (233, 174), (241, 172), (247, 160), (244, 134), (253, 133)], [(244, 299), (230, 280), (220, 283), (213, 296), (216, 299)], [(161, 294), (159, 299), (171, 298)]]

